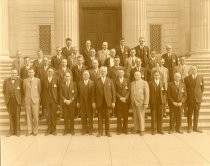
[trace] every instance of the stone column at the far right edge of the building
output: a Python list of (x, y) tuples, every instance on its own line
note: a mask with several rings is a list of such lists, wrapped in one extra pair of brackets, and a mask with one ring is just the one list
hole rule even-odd
[(191, 53), (210, 56), (210, 0), (191, 0)]

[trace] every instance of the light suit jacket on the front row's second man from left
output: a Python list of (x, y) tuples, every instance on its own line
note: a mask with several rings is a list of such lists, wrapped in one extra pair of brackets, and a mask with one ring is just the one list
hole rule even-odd
[(25, 104), (30, 104), (31, 100), (34, 104), (40, 102), (41, 82), (40, 79), (34, 77), (32, 83), (30, 78), (23, 80), (23, 92), (25, 96)]

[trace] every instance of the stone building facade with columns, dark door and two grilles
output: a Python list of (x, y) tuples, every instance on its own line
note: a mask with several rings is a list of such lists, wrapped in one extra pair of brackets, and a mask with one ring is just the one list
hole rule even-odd
[(140, 36), (158, 53), (170, 44), (178, 55), (210, 54), (210, 0), (1, 0), (1, 59), (53, 55), (70, 37), (80, 48), (86, 39), (100, 48), (123, 36), (134, 47)]

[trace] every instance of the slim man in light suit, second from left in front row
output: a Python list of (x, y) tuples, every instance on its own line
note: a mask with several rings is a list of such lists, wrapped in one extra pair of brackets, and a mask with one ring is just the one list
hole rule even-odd
[(23, 92), (25, 97), (25, 108), (27, 116), (28, 131), (26, 136), (38, 134), (39, 105), (41, 95), (40, 79), (35, 78), (33, 68), (28, 70), (29, 78), (23, 80)]

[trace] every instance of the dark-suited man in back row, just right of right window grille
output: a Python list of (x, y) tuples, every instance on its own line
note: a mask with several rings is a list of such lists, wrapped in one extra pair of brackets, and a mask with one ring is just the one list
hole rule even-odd
[(162, 55), (162, 58), (165, 60), (164, 67), (166, 67), (169, 71), (169, 81), (172, 82), (174, 78), (174, 67), (178, 65), (178, 57), (176, 54), (171, 52), (171, 45), (166, 46), (167, 53)]

